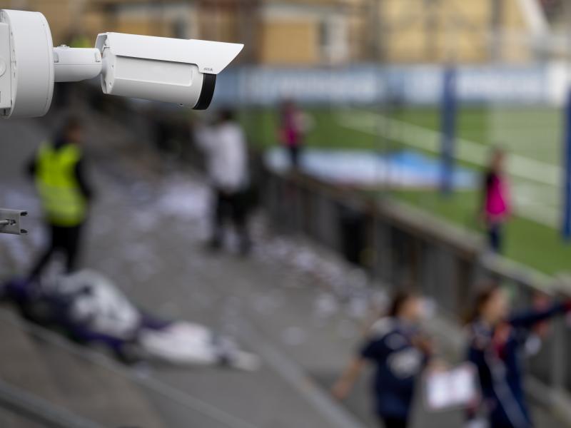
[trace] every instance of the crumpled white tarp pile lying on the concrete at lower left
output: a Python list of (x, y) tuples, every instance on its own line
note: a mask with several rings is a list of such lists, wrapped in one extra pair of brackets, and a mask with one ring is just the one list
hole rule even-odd
[(69, 316), (97, 335), (124, 340), (138, 357), (176, 365), (229, 365), (256, 370), (258, 357), (243, 352), (227, 337), (186, 321), (159, 322), (128, 300), (98, 272), (82, 270), (56, 286), (71, 298)]

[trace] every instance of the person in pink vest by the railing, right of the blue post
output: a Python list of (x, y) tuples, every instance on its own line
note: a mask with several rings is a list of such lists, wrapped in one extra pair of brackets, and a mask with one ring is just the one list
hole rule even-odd
[(503, 228), (510, 218), (510, 189), (505, 174), (505, 152), (494, 149), (490, 166), (482, 181), (481, 217), (487, 230), (488, 243), (495, 253), (500, 253), (503, 243)]

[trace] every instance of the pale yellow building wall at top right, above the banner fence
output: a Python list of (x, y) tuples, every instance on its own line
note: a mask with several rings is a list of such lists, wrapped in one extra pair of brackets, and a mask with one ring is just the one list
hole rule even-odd
[[(489, 61), (490, 1), (442, 0), (435, 5), (427, 7), (423, 0), (383, 1), (379, 13), (385, 29), (385, 61)], [(505, 0), (504, 18), (506, 31), (525, 31), (517, 0)], [(502, 54), (506, 61), (523, 61), (529, 58), (530, 49), (505, 41)]]

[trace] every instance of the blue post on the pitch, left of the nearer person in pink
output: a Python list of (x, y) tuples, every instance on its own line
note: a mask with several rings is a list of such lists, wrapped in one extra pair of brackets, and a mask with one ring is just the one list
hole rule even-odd
[(450, 195), (453, 190), (454, 146), (456, 133), (456, 69), (449, 65), (444, 71), (441, 117), (442, 175), (440, 192)]

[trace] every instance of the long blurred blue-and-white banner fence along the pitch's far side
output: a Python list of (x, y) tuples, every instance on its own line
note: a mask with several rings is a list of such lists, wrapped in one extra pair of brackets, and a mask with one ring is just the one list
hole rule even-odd
[[(565, 79), (558, 64), (459, 66), (460, 103), (555, 104)], [(435, 104), (443, 93), (442, 66), (271, 68), (244, 66), (218, 76), (216, 103), (272, 105), (283, 98), (302, 103), (367, 105), (379, 102)], [(559, 77), (558, 77), (559, 76)]]

